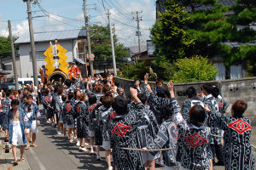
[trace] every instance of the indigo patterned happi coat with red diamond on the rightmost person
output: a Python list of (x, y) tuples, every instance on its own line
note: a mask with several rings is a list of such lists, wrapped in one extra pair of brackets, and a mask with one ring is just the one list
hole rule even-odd
[(251, 121), (245, 117), (224, 116), (210, 112), (210, 125), (224, 130), (224, 164), (226, 170), (253, 170), (255, 159), (250, 144)]

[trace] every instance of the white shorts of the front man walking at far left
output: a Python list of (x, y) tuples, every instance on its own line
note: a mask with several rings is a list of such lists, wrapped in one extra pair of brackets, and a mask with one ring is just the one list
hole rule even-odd
[(20, 128), (20, 121), (13, 122), (13, 138), (12, 138), (13, 145), (25, 145), (22, 139), (22, 132)]

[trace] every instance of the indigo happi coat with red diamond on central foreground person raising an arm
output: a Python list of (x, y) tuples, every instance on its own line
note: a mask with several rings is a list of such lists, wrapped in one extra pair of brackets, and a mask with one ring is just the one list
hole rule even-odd
[(123, 116), (112, 116), (112, 120), (108, 123), (113, 160), (119, 170), (145, 169), (141, 151), (119, 149), (119, 147), (142, 148), (137, 132), (137, 123), (143, 116), (143, 109), (144, 105), (142, 103), (137, 104), (134, 110)]

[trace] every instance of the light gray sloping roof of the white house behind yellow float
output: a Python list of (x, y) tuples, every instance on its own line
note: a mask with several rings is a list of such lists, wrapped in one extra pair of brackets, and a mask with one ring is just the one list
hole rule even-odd
[[(48, 42), (55, 39), (66, 40), (66, 39), (77, 39), (78, 37), (86, 37), (85, 30), (67, 30), (67, 31), (46, 31), (46, 32), (34, 32), (35, 42)], [(21, 35), (15, 44), (19, 43), (30, 43), (29, 34)]]

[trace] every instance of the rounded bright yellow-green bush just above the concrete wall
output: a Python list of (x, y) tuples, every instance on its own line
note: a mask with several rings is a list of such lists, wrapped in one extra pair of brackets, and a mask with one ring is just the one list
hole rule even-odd
[(177, 59), (174, 65), (177, 71), (172, 78), (173, 82), (212, 81), (218, 73), (212, 61), (201, 56)]

